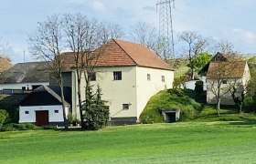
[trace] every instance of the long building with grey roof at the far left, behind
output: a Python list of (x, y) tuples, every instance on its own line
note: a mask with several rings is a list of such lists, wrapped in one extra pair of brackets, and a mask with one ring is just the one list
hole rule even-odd
[(0, 91), (33, 90), (49, 85), (48, 62), (17, 63), (0, 74)]

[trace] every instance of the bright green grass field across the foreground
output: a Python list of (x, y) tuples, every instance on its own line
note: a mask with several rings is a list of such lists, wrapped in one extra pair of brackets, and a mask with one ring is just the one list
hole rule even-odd
[(0, 132), (0, 163), (253, 163), (255, 136), (243, 122)]

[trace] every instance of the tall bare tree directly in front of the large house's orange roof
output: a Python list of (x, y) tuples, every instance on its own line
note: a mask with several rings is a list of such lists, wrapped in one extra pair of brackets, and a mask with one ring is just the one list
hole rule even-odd
[[(122, 36), (123, 32), (119, 26), (100, 23), (95, 19), (89, 19), (85, 15), (64, 15), (64, 31), (67, 36), (67, 46), (72, 50), (76, 76), (78, 80), (78, 99), (80, 108), (81, 128), (86, 128), (83, 119), (82, 99), (81, 99), (81, 78), (85, 78), (86, 97), (90, 92), (91, 75), (99, 57), (106, 53), (106, 44), (112, 38)], [(88, 103), (89, 104), (89, 103)]]

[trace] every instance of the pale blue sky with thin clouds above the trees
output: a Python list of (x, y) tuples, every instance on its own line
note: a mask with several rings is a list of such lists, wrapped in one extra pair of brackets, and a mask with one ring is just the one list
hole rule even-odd
[[(0, 5), (0, 37), (12, 47), (13, 63), (23, 62), (27, 34), (48, 15), (80, 12), (123, 27), (130, 38), (138, 21), (158, 25), (157, 0), (8, 0)], [(176, 0), (175, 33), (196, 30), (204, 36), (226, 39), (242, 53), (256, 54), (255, 0)]]

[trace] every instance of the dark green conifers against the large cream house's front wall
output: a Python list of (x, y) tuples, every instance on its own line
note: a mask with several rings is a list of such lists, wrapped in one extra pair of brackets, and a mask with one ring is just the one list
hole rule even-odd
[(109, 108), (105, 101), (101, 100), (101, 88), (98, 86), (96, 94), (92, 95), (91, 87), (86, 91), (86, 100), (82, 105), (84, 111), (85, 128), (88, 130), (97, 130), (107, 126), (109, 121)]

